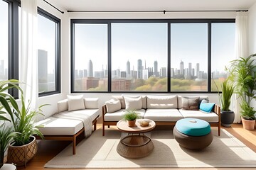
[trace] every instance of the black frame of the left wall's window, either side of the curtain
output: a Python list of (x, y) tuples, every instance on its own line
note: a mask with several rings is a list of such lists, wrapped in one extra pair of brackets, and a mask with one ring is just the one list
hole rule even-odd
[[(18, 8), (21, 6), (20, 1), (16, 0), (2, 0), (6, 1), (9, 4), (9, 16), (8, 16), (8, 25), (9, 25), (9, 49), (8, 49), (8, 79), (19, 79), (19, 61), (18, 61)], [(38, 96), (48, 96), (52, 94), (60, 93), (60, 19), (53, 16), (52, 14), (44, 11), (38, 7), (38, 13), (42, 16), (54, 21), (58, 24), (56, 27), (56, 46), (55, 46), (55, 91), (48, 91), (45, 93), (38, 94)], [(9, 94), (18, 98), (18, 90), (9, 89)]]

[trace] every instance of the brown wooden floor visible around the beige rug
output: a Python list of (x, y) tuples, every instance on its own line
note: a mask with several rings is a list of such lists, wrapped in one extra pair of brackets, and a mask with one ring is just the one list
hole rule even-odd
[[(101, 125), (97, 125), (97, 129), (101, 128)], [(224, 128), (224, 127), (222, 127)], [(241, 142), (243, 142), (247, 147), (250, 147), (254, 152), (256, 152), (256, 130), (244, 130), (242, 125), (233, 124), (231, 128), (224, 128), (228, 130), (232, 135), (237, 137)], [(26, 170), (39, 170), (44, 169), (43, 166), (50, 159), (55, 157), (62, 149), (67, 147), (70, 142), (61, 142), (61, 141), (50, 141), (44, 140), (38, 143), (38, 153), (35, 158), (33, 158), (30, 162), (28, 162), (27, 167), (18, 167), (18, 170), (26, 169)], [(256, 164), (256, 162), (255, 162)], [(208, 168), (207, 170), (217, 169), (217, 168)], [(220, 168), (218, 168), (220, 169)], [(233, 169), (233, 168), (230, 168)], [(45, 169), (45, 170), (54, 170), (54, 169)], [(68, 170), (68, 169), (63, 169)], [(87, 169), (88, 170), (88, 169)], [(96, 170), (96, 169), (94, 169)], [(116, 169), (118, 170), (118, 169)], [(156, 169), (139, 169), (139, 170), (156, 170)], [(175, 170), (175, 169), (171, 169)], [(181, 170), (181, 169), (178, 169)], [(186, 169), (190, 170), (190, 169)], [(201, 169), (203, 170), (203, 169)], [(256, 168), (255, 168), (256, 170)]]

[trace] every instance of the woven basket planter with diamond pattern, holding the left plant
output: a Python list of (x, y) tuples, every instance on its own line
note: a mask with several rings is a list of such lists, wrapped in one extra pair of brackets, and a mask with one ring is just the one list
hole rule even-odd
[(26, 163), (35, 157), (38, 150), (36, 137), (33, 138), (32, 142), (23, 146), (13, 146), (11, 143), (8, 148), (7, 159), (10, 164), (16, 164), (16, 166), (26, 166)]

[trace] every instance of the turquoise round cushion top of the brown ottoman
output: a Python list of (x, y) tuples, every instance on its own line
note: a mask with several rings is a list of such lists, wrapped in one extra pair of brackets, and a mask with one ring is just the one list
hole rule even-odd
[(210, 124), (205, 120), (196, 118), (183, 118), (176, 125), (178, 132), (189, 136), (204, 136), (210, 133)]

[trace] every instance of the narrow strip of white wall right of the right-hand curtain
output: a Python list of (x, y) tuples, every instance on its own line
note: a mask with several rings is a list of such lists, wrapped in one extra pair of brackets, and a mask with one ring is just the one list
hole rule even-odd
[[(256, 53), (256, 3), (249, 8), (248, 14), (248, 54)], [(252, 106), (256, 108), (256, 101), (252, 101)]]

